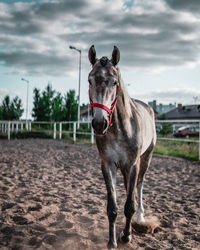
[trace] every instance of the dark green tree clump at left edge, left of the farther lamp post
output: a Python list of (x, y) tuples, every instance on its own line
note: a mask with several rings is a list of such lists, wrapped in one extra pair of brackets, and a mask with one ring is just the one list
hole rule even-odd
[(18, 96), (12, 101), (9, 95), (4, 97), (0, 111), (0, 118), (2, 120), (19, 120), (23, 112), (22, 100)]

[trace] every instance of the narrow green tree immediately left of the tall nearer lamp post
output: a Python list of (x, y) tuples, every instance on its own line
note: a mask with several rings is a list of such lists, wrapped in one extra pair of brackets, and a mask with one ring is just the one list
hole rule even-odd
[(66, 121), (77, 121), (78, 115), (78, 101), (75, 96), (75, 90), (69, 90), (69, 92), (65, 95), (65, 117)]

